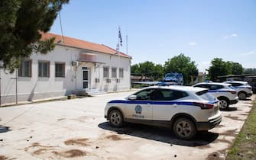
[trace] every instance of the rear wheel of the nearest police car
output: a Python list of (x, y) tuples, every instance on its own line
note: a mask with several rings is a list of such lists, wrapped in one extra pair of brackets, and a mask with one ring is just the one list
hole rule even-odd
[(188, 118), (179, 118), (173, 124), (173, 133), (179, 139), (191, 139), (196, 135), (196, 126), (193, 121)]

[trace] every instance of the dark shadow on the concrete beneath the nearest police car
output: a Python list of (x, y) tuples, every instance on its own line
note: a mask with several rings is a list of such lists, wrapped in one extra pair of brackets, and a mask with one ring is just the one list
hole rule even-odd
[(111, 130), (118, 134), (126, 134), (129, 136), (137, 136), (144, 139), (151, 139), (160, 142), (166, 142), (170, 145), (180, 146), (205, 146), (218, 138), (218, 133), (200, 132), (193, 139), (182, 140), (177, 139), (170, 129), (160, 128), (156, 126), (146, 126), (141, 124), (127, 123), (122, 128), (115, 128), (108, 122), (99, 123), (99, 128), (103, 130)]

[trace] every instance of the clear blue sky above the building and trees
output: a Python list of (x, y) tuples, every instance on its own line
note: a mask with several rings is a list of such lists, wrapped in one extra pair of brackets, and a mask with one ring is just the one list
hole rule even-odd
[[(70, 0), (60, 15), (64, 36), (114, 49), (120, 26), (131, 65), (183, 53), (199, 72), (214, 58), (256, 68), (255, 0)], [(50, 32), (61, 34), (60, 17)]]

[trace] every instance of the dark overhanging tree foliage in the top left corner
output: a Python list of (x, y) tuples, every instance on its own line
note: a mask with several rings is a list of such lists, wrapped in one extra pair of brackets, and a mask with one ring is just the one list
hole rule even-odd
[(0, 1), (0, 61), (11, 72), (31, 53), (47, 53), (54, 48), (54, 38), (41, 40), (50, 30), (58, 11), (69, 0)]

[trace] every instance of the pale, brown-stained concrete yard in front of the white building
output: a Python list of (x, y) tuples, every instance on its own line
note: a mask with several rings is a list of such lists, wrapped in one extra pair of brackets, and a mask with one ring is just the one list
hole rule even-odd
[[(222, 159), (251, 110), (251, 100), (222, 111), (222, 123), (195, 139), (177, 139), (154, 126), (109, 126), (105, 103), (131, 92), (0, 108), (0, 160), (8, 159)], [(5, 132), (4, 132), (5, 131)]]

